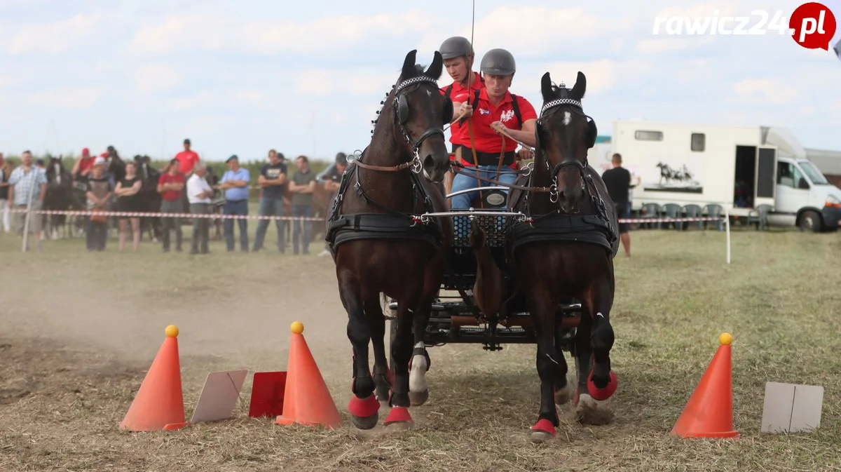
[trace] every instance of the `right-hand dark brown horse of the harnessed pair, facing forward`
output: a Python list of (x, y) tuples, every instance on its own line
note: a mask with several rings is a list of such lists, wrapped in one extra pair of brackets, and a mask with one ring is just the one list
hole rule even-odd
[[(526, 300), (537, 337), (540, 413), (529, 432), (536, 442), (555, 437), (555, 405), (565, 404), (570, 397), (580, 422), (598, 424), (610, 418), (600, 400), (616, 390), (609, 353), (614, 339), (610, 322), (613, 257), (619, 247), (616, 210), (604, 182), (587, 162), (597, 129), (581, 106), (584, 74), (579, 72), (571, 90), (553, 86), (548, 72), (541, 85), (543, 106), (536, 125), (534, 170), (516, 182), (527, 189), (515, 188), (509, 200), (512, 211), (528, 218), (511, 220), (506, 235), (506, 258), (517, 296)], [(475, 228), (473, 232), (478, 233)], [(483, 269), (499, 270), (479, 265), (478, 272)], [(477, 279), (493, 284), (497, 278), (478, 273)], [(489, 292), (489, 287), (484, 290)], [(578, 370), (574, 395), (567, 384), (560, 341), (567, 331), (559, 306), (569, 298), (580, 300), (582, 309), (570, 346)]]

